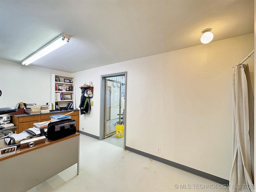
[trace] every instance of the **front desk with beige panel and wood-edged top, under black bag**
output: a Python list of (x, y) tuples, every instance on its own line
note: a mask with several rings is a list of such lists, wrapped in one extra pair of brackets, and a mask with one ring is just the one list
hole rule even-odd
[[(74, 164), (79, 174), (79, 138), (75, 133), (56, 141), (46, 139), (45, 143), (0, 157), (0, 191), (27, 191)], [(0, 148), (6, 147), (0, 140)]]

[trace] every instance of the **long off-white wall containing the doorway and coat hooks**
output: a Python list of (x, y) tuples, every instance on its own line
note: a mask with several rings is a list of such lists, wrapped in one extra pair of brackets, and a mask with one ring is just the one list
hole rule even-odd
[(80, 130), (99, 136), (100, 76), (127, 71), (126, 146), (229, 180), (231, 69), (253, 49), (248, 34), (74, 73), (76, 87), (94, 84)]

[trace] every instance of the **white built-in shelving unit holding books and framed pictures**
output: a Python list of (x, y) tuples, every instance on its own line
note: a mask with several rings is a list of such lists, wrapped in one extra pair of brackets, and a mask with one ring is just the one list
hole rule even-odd
[[(74, 81), (75, 81), (75, 78), (72, 76), (52, 74), (51, 102), (53, 104), (54, 110), (65, 108), (65, 107), (66, 109), (76, 108)], [(68, 104), (70, 104), (70, 106), (68, 106)]]

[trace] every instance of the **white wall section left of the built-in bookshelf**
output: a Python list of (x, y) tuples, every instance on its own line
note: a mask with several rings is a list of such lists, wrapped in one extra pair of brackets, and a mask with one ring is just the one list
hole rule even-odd
[(15, 107), (18, 102), (51, 102), (52, 73), (70, 76), (66, 72), (0, 60), (0, 107)]

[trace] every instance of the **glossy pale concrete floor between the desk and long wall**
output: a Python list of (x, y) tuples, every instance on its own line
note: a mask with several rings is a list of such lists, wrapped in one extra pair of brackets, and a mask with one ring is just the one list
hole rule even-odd
[[(47, 171), (47, 165), (45, 168)], [(82, 134), (80, 134), (80, 174), (76, 175), (76, 165), (74, 165), (29, 190), (29, 192), (220, 191), (228, 192), (228, 188)]]

